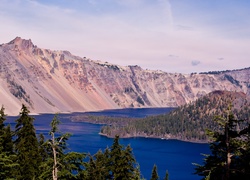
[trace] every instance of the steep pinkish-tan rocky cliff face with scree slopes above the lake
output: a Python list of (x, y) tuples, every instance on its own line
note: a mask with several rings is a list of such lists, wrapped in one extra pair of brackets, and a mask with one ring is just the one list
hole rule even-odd
[(250, 95), (250, 68), (204, 74), (166, 73), (36, 47), (19, 37), (0, 45), (0, 105), (9, 115), (179, 106), (214, 90)]

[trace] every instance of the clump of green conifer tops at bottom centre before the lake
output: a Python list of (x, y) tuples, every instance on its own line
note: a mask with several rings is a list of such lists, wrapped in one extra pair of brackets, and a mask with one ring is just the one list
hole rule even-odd
[(86, 179), (140, 179), (139, 167), (128, 145), (124, 148), (116, 136), (110, 149), (98, 151), (87, 164)]

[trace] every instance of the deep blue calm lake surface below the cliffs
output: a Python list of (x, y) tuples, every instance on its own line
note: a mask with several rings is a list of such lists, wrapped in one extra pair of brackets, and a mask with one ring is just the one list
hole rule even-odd
[[(90, 112), (92, 115), (122, 116), (122, 117), (145, 117), (155, 114), (164, 114), (172, 108), (146, 108), (146, 109), (121, 109), (106, 110), (100, 112)], [(111, 146), (113, 139), (100, 136), (101, 125), (83, 122), (71, 122), (70, 117), (83, 113), (60, 114), (62, 122), (61, 132), (72, 134), (68, 144), (70, 150), (78, 152), (89, 152), (92, 155), (99, 149)], [(48, 135), (50, 122), (53, 114), (36, 115), (35, 127), (37, 134)], [(17, 117), (7, 117), (6, 123), (14, 127)], [(202, 164), (201, 153), (209, 154), (208, 144), (189, 143), (178, 140), (162, 140), (152, 138), (128, 138), (120, 139), (120, 144), (124, 146), (130, 144), (133, 148), (134, 156), (140, 164), (141, 173), (144, 178), (150, 179), (153, 165), (158, 168), (158, 175), (164, 179), (166, 170), (169, 172), (170, 180), (198, 180), (201, 177), (193, 175), (194, 166), (192, 163)]]

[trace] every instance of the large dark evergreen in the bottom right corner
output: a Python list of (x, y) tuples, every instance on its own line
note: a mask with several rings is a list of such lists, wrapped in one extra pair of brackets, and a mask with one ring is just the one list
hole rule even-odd
[[(196, 164), (196, 174), (203, 176), (205, 180), (231, 180), (231, 179), (250, 179), (250, 174), (244, 172), (244, 162), (248, 161), (249, 156), (244, 153), (249, 139), (244, 136), (249, 132), (249, 127), (239, 130), (240, 120), (235, 120), (234, 115), (229, 109), (225, 117), (216, 117), (221, 131), (208, 130), (207, 134), (211, 137), (211, 155), (205, 155), (204, 165)], [(245, 157), (242, 160), (242, 157)], [(249, 167), (249, 166), (248, 166)], [(249, 171), (248, 171), (249, 172)]]

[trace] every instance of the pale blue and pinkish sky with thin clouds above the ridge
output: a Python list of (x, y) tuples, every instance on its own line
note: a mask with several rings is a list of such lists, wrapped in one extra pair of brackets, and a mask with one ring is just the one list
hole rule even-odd
[(0, 44), (171, 73), (250, 67), (250, 0), (0, 0)]

